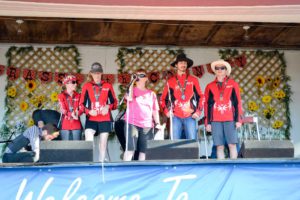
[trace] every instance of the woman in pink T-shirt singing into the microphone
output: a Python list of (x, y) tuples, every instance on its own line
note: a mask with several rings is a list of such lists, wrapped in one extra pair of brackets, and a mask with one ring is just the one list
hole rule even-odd
[[(129, 105), (125, 113), (126, 149), (123, 160), (131, 161), (134, 151), (139, 151), (139, 160), (146, 159), (147, 139), (153, 128), (160, 128), (159, 106), (155, 92), (146, 88), (146, 71), (136, 71), (135, 87), (130, 87), (126, 97)], [(133, 84), (132, 84), (133, 85)], [(127, 126), (128, 125), (128, 126)]]

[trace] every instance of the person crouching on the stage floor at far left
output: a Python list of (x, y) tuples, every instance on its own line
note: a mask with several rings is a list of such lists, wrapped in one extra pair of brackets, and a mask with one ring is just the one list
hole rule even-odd
[[(27, 128), (24, 133), (11, 141), (2, 157), (3, 163), (37, 162), (40, 158), (40, 140), (53, 140), (57, 138), (59, 131), (53, 124), (44, 125), (38, 121), (37, 125)], [(31, 151), (19, 152), (30, 144)]]

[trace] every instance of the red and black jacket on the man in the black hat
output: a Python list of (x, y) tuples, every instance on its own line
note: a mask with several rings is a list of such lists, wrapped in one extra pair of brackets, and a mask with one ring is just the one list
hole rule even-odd
[[(169, 85), (169, 86), (168, 86)], [(170, 98), (168, 87), (170, 88)], [(173, 114), (177, 117), (187, 118), (192, 114), (201, 114), (204, 96), (199, 81), (192, 75), (176, 75), (166, 84), (160, 99), (160, 105), (165, 114), (169, 112), (169, 99), (173, 106)]]

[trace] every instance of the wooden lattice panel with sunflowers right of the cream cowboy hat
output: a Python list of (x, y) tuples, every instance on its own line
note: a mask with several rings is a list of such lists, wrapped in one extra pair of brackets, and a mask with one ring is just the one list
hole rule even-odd
[[(282, 78), (281, 74), (281, 60), (277, 55), (275, 56), (259, 56), (256, 55), (253, 51), (244, 51), (239, 52), (240, 55), (245, 54), (247, 57), (247, 64), (244, 67), (233, 67), (231, 77), (235, 79), (243, 92), (241, 94), (243, 100), (243, 109), (246, 114), (255, 114), (259, 117), (259, 125), (260, 127), (264, 127), (268, 129), (272, 126), (272, 123), (275, 120), (281, 120), (284, 122), (284, 128), (287, 124), (287, 116), (286, 116), (286, 107), (282, 101), (279, 101), (273, 97), (274, 91), (278, 91), (283, 89), (286, 83), (282, 82), (276, 89), (268, 89), (266, 87), (267, 83), (259, 88), (256, 86), (256, 78), (258, 76), (262, 76), (265, 79), (268, 77), (274, 79), (276, 77)], [(267, 82), (267, 80), (266, 80)], [(272, 96), (272, 101), (270, 104), (265, 104), (262, 102), (262, 97), (265, 95)], [(254, 101), (258, 104), (258, 111), (249, 112), (248, 110), (248, 102)], [(268, 106), (271, 106), (275, 109), (275, 114), (272, 118), (266, 119), (264, 116), (263, 110)], [(284, 133), (282, 132), (282, 137), (284, 137)]]

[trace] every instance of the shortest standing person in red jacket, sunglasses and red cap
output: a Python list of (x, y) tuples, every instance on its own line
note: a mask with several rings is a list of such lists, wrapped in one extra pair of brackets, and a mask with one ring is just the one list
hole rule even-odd
[(62, 140), (81, 140), (81, 122), (79, 116), (80, 94), (76, 92), (77, 81), (73, 75), (68, 75), (63, 80), (63, 92), (58, 95), (58, 102), (61, 112), (61, 139)]

